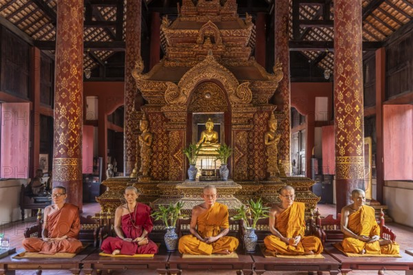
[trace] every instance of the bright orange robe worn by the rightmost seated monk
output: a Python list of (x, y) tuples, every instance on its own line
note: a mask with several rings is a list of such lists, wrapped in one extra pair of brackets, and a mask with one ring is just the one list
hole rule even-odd
[[(374, 215), (374, 208), (361, 206), (359, 210), (348, 216), (347, 228), (359, 236), (380, 236), (380, 227)], [(399, 254), (399, 245), (396, 243), (380, 245), (379, 241), (366, 243), (350, 236), (345, 236), (341, 242), (343, 249), (348, 253), (360, 253), (366, 250), (367, 254)]]

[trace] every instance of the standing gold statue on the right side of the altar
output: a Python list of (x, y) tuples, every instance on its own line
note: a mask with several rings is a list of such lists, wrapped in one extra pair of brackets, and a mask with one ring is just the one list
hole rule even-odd
[(268, 120), (268, 128), (269, 130), (264, 133), (264, 144), (266, 145), (267, 153), (267, 172), (270, 174), (268, 179), (276, 179), (279, 177), (277, 154), (278, 142), (281, 135), (275, 133), (275, 131), (277, 131), (277, 119), (273, 112), (271, 112), (271, 118)]

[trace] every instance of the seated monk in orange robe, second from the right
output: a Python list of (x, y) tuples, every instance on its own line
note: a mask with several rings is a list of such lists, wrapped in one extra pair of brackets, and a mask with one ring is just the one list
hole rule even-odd
[(266, 236), (264, 244), (267, 250), (286, 255), (320, 254), (323, 245), (316, 236), (304, 236), (305, 204), (295, 202), (295, 191), (291, 186), (284, 186), (279, 191), (278, 203), (271, 208), (269, 228), (273, 235)]

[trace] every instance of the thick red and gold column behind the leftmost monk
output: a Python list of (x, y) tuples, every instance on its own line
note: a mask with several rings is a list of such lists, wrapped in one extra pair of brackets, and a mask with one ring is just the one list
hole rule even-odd
[(57, 1), (53, 186), (82, 209), (83, 0)]

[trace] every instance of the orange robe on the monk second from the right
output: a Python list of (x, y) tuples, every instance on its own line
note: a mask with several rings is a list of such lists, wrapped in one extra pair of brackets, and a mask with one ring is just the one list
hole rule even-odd
[(266, 249), (287, 255), (301, 255), (308, 251), (313, 251), (315, 254), (323, 252), (320, 239), (316, 236), (304, 236), (306, 230), (305, 208), (304, 203), (294, 202), (292, 206), (279, 214), (275, 221), (275, 228), (282, 236), (286, 238), (301, 236), (298, 245), (287, 245), (279, 237), (270, 235), (264, 239)]

